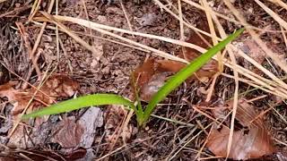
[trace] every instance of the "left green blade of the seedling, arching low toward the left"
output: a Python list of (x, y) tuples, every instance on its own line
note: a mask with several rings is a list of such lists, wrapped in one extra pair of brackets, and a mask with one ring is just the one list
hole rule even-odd
[(70, 112), (75, 109), (83, 108), (86, 106), (103, 106), (103, 105), (130, 106), (135, 110), (134, 104), (131, 101), (127, 100), (125, 97), (117, 96), (114, 94), (94, 94), (69, 99), (52, 106), (44, 107), (33, 113), (23, 115), (22, 119), (28, 119), (30, 117), (38, 117), (48, 114), (60, 114)]

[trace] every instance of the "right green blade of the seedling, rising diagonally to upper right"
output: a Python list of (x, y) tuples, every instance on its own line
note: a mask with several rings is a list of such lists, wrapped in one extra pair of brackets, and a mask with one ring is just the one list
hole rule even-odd
[(144, 121), (146, 122), (149, 119), (155, 106), (157, 106), (157, 104), (160, 103), (162, 99), (167, 97), (172, 90), (176, 89), (182, 82), (187, 80), (189, 76), (191, 76), (194, 72), (206, 64), (213, 57), (213, 55), (216, 55), (219, 51), (221, 51), (222, 48), (230, 43), (230, 41), (237, 38), (243, 32), (243, 30), (244, 29), (237, 30), (228, 38), (225, 38), (222, 40), (222, 42), (210, 48), (203, 55), (198, 56), (193, 62), (188, 64), (187, 67), (173, 75), (155, 94), (155, 96), (152, 97), (152, 100), (146, 106), (144, 110)]

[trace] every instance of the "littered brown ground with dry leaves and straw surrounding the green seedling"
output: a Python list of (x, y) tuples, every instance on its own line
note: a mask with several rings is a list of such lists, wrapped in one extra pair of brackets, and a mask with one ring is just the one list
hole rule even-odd
[[(143, 106), (147, 105), (152, 93), (149, 88), (161, 87), (170, 75), (184, 66), (156, 53), (165, 52), (188, 61), (200, 55), (195, 49), (180, 47), (162, 38), (212, 47), (214, 39), (190, 29), (194, 26), (211, 33), (210, 21), (200, 9), (206, 9), (205, 0), (181, 1), (184, 21), (189, 24), (183, 29), (168, 11), (178, 15), (178, 1), (175, 0), (65, 0), (53, 5), (52, 15), (135, 31), (129, 34), (109, 30), (106, 26), (102, 28), (122, 39), (95, 30), (89, 24), (85, 27), (83, 23), (45, 17), (45, 13), (49, 13), (49, 2), (39, 1), (35, 11), (33, 4), (37, 2), (0, 0), (2, 160), (224, 160), (231, 122), (231, 116), (226, 115), (233, 108), (236, 89), (233, 74), (237, 70), (241, 80), (230, 160), (287, 160), (287, 71), (280, 65), (286, 64), (286, 1), (280, 1), (285, 5), (275, 0), (262, 1), (275, 15), (266, 13), (257, 1), (232, 1), (231, 5), (264, 45), (246, 30), (232, 42), (243, 55), (230, 50), (225, 55), (230, 62), (230, 53), (234, 53), (242, 68), (224, 62), (221, 71), (218, 66), (222, 62), (214, 60), (204, 65), (157, 106), (145, 127), (139, 127), (135, 114), (123, 106), (94, 106), (19, 121), (25, 112), (88, 94), (114, 93), (134, 99), (133, 73)], [(211, 0), (207, 4), (216, 15), (225, 15), (218, 16), (218, 20), (226, 34), (243, 27), (244, 22), (223, 1)], [(282, 18), (280, 23), (274, 18), (276, 15)], [(43, 21), (48, 22), (40, 34)], [(214, 19), (213, 25), (217, 37), (222, 38)], [(182, 30), (184, 37), (180, 34)], [(137, 36), (136, 33), (161, 38)], [(39, 46), (37, 38), (40, 38)], [(134, 44), (127, 43), (124, 38), (133, 40)], [(272, 55), (261, 46), (271, 50)], [(151, 52), (148, 47), (157, 51)], [(255, 60), (257, 65), (244, 55)], [(276, 62), (274, 57), (281, 62)], [(39, 92), (35, 94), (37, 88)], [(209, 93), (212, 95), (208, 99)], [(219, 125), (220, 122), (223, 123)], [(224, 131), (228, 131), (227, 134)], [(259, 150), (250, 152), (247, 148)]]

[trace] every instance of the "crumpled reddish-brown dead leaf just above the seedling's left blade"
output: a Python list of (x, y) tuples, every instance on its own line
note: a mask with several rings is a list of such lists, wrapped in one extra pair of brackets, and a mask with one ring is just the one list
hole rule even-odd
[[(12, 114), (14, 116), (22, 113), (22, 110), (28, 105), (30, 98), (36, 91), (36, 89), (13, 89), (15, 83), (16, 82), (11, 81), (0, 86), (0, 97), (7, 97), (8, 101), (13, 103)], [(36, 83), (35, 86), (38, 86), (38, 83)], [(57, 98), (72, 97), (75, 90), (78, 89), (78, 86), (76, 81), (65, 75), (53, 75), (40, 88), (46, 95), (38, 92), (30, 106), (45, 106), (42, 105), (42, 103), (50, 105), (54, 103)]]

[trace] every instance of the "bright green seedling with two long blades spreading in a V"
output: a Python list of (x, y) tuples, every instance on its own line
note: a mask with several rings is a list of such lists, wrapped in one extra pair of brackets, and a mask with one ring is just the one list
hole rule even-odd
[[(32, 112), (30, 114), (25, 114), (22, 116), (22, 119), (27, 119), (30, 117), (37, 117), (48, 114), (60, 114), (75, 109), (83, 108), (86, 106), (102, 106), (102, 105), (123, 105), (129, 106), (135, 111), (137, 123), (139, 126), (144, 126), (150, 118), (152, 111), (161, 102), (165, 97), (167, 97), (170, 92), (176, 89), (183, 81), (187, 80), (194, 72), (206, 64), (213, 55), (216, 55), (219, 51), (227, 46), (230, 41), (237, 38), (244, 29), (237, 30), (235, 33), (231, 34), (228, 38), (225, 38), (217, 44), (216, 46), (210, 48), (203, 55), (198, 56), (194, 61), (188, 64), (184, 69), (173, 75), (163, 87), (152, 97), (149, 104), (143, 109), (141, 102), (136, 93), (137, 105), (134, 102), (126, 99), (125, 97), (117, 96), (114, 94), (94, 94), (83, 97), (77, 97), (75, 99), (69, 99), (63, 102), (60, 102), (56, 105), (48, 106), (42, 108), (39, 111)], [(135, 90), (136, 91), (136, 90)]]

